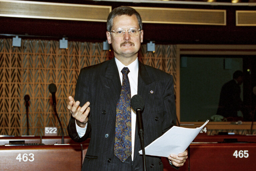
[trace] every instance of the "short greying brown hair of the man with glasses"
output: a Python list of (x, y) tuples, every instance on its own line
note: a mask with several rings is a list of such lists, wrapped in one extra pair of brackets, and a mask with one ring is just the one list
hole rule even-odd
[(137, 17), (138, 20), (138, 24), (140, 26), (140, 30), (142, 30), (142, 19), (140, 14), (131, 7), (127, 7), (127, 6), (120, 6), (117, 8), (114, 8), (108, 15), (107, 17), (107, 31), (111, 31), (112, 26), (113, 26), (113, 19), (116, 16), (120, 16), (120, 15), (128, 15), (128, 16), (132, 16), (135, 15)]

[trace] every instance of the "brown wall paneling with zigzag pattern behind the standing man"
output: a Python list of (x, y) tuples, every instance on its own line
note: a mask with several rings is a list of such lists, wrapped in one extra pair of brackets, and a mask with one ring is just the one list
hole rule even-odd
[[(152, 53), (142, 45), (139, 59), (173, 74), (176, 82), (175, 48), (156, 45), (156, 53)], [(57, 86), (57, 112), (67, 135), (67, 97), (75, 94), (80, 68), (112, 57), (112, 51), (102, 50), (102, 43), (69, 41), (68, 49), (60, 49), (59, 41), (22, 39), (21, 47), (12, 47), (12, 39), (0, 39), (0, 135), (26, 135), (26, 94), (30, 96), (29, 135), (43, 136), (44, 128), (53, 126), (61, 135), (51, 105), (50, 83)]]

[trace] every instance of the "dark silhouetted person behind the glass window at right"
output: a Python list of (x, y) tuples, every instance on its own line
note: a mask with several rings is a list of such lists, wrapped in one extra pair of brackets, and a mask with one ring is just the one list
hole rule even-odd
[(217, 115), (224, 116), (228, 121), (241, 120), (237, 112), (243, 108), (243, 102), (240, 98), (240, 85), (242, 83), (243, 72), (237, 70), (233, 73), (233, 79), (222, 86)]

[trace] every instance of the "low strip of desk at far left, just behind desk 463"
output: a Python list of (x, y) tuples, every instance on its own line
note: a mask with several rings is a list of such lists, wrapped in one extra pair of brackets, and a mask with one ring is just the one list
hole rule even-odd
[(24, 143), (41, 143), (40, 136), (0, 137), (0, 145), (9, 144), (10, 141), (24, 141)]

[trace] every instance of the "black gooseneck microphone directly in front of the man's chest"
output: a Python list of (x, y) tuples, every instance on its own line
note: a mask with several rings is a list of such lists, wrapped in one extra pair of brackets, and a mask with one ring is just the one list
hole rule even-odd
[(134, 95), (131, 99), (131, 106), (133, 110), (136, 111), (136, 118), (138, 123), (138, 130), (141, 139), (142, 155), (143, 155), (143, 164), (144, 171), (146, 171), (146, 155), (145, 155), (145, 146), (144, 146), (144, 128), (142, 122), (142, 110), (144, 109), (144, 101), (140, 95)]

